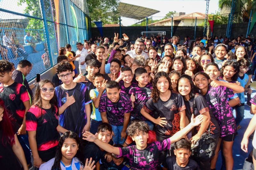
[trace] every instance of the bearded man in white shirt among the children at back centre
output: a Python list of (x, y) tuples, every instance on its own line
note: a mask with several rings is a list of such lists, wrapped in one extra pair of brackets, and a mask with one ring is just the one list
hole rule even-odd
[(144, 59), (146, 60), (148, 58), (148, 54), (143, 51), (145, 47), (144, 40), (141, 38), (136, 39), (134, 44), (134, 50), (127, 51), (126, 54), (129, 54), (132, 58), (142, 55), (144, 56)]

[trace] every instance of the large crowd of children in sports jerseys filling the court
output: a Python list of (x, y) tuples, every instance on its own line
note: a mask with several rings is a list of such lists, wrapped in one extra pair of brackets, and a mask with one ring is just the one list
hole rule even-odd
[[(134, 44), (123, 36), (111, 44), (105, 38), (103, 46), (78, 42), (76, 52), (61, 47), (52, 81), (30, 86), (29, 61), (15, 69), (0, 60), (1, 168), (214, 170), (221, 150), (233, 169), (255, 53), (228, 39), (203, 37), (188, 47), (188, 37), (181, 46), (176, 36), (169, 43), (142, 36)], [(245, 152), (253, 130), (250, 123)]]

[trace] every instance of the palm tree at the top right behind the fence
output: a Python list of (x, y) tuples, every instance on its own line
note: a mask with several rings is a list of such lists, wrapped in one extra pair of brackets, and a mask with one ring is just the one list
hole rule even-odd
[[(219, 8), (231, 11), (232, 0), (219, 0)], [(255, 0), (236, 0), (234, 22), (249, 22), (251, 10), (256, 11)]]

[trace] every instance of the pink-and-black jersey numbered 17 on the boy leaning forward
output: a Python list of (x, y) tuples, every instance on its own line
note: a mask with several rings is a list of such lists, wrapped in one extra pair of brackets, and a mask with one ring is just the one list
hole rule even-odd
[(132, 102), (130, 96), (120, 91), (119, 100), (116, 103), (111, 102), (107, 93), (100, 97), (99, 112), (107, 112), (108, 123), (114, 126), (124, 124), (124, 114), (132, 111)]

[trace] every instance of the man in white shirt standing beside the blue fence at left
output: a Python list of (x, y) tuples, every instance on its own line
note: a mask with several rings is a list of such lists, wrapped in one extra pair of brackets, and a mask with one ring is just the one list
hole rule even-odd
[(76, 48), (77, 48), (76, 55), (78, 54), (81, 55), (80, 57), (76, 58), (76, 61), (79, 62), (79, 71), (80, 73), (85, 74), (86, 73), (85, 57), (86, 55), (88, 55), (88, 51), (85, 48), (83, 48), (82, 43), (76, 43)]

